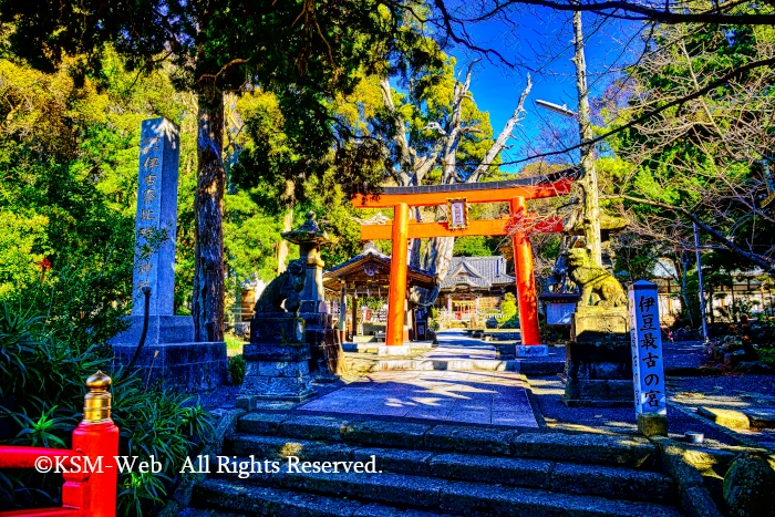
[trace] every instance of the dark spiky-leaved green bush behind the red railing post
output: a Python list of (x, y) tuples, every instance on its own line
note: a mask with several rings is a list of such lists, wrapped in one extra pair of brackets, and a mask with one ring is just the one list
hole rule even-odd
[[(158, 511), (180, 482), (184, 459), (213, 433), (210, 416), (198, 403), (173, 392), (147, 391), (144, 379), (111, 371), (95, 347), (79, 351), (46, 332), (45, 320), (0, 313), (0, 444), (66, 447), (81, 420), (85, 380), (103, 370), (113, 379), (113, 421), (121, 430), (120, 454), (153, 455), (161, 475), (120, 473), (120, 515)], [(59, 504), (62, 480), (33, 469), (0, 473), (0, 507)]]

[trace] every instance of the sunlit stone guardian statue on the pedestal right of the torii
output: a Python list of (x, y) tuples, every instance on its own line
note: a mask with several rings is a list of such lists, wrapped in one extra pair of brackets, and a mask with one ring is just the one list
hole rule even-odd
[(586, 249), (574, 248), (565, 254), (568, 258), (568, 276), (581, 291), (581, 304), (599, 307), (627, 307), (627, 294), (619, 280), (602, 269), (593, 266)]

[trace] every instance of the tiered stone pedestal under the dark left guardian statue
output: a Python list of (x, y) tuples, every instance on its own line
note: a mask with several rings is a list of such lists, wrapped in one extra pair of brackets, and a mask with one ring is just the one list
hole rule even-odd
[(250, 344), (242, 349), (242, 356), (245, 382), (237, 396), (237, 407), (254, 410), (259, 400), (301, 402), (314, 393), (303, 319), (289, 312), (254, 318)]

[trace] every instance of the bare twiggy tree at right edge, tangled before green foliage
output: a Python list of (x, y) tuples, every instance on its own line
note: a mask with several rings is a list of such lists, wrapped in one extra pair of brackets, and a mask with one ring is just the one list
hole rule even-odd
[[(722, 52), (733, 46), (730, 40), (745, 38), (745, 51), (734, 54), (741, 62), (772, 60), (775, 37), (765, 28), (698, 33), (685, 25), (660, 28), (658, 37), (660, 45), (622, 80), (626, 102), (608, 106), (613, 126), (629, 125), (627, 139), (612, 145), (631, 164), (609, 192), (643, 236), (693, 251), (694, 223), (710, 246), (775, 272), (775, 217), (766, 207), (775, 148), (775, 99), (767, 92), (775, 70), (728, 79), (731, 68), (742, 66)], [(709, 94), (675, 103), (703, 90)], [(640, 116), (664, 105), (671, 107), (660, 116)]]

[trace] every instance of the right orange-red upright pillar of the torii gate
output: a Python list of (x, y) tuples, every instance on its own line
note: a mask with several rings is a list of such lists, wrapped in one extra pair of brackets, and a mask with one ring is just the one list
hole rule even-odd
[[(512, 216), (526, 215), (525, 198), (510, 200)], [(538, 332), (538, 297), (536, 296), (536, 277), (533, 272), (533, 247), (525, 229), (513, 235), (514, 269), (517, 273), (517, 301), (519, 302), (519, 333), (521, 344), (540, 344)]]

